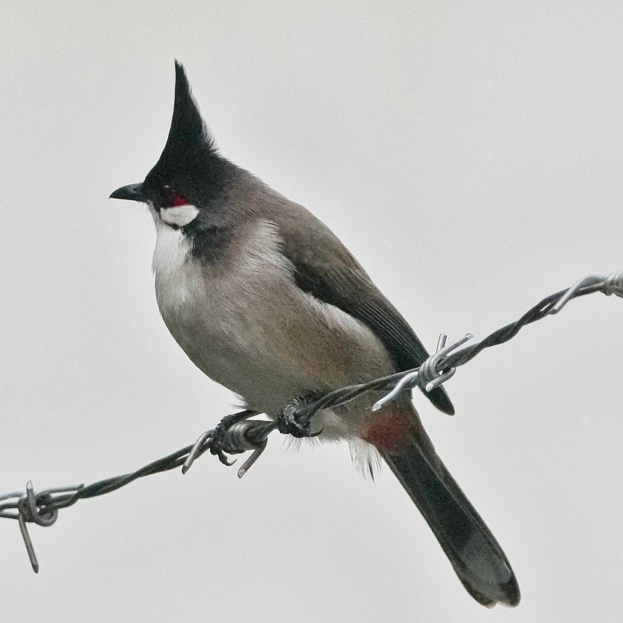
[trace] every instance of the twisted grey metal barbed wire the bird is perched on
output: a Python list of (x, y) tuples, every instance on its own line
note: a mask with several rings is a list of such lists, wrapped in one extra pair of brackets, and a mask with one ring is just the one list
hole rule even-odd
[[(288, 415), (303, 424), (310, 422), (313, 416), (323, 409), (331, 409), (341, 406), (363, 396), (371, 391), (388, 391), (372, 407), (379, 409), (384, 404), (396, 399), (402, 392), (411, 391), (420, 387), (424, 391), (432, 391), (451, 378), (458, 366), (463, 366), (471, 361), (478, 353), (490, 346), (496, 346), (511, 340), (523, 326), (560, 312), (563, 307), (573, 298), (583, 297), (593, 292), (602, 292), (606, 295), (615, 294), (623, 297), (623, 271), (609, 275), (588, 275), (579, 279), (571, 288), (561, 290), (555, 294), (543, 298), (533, 308), (528, 310), (519, 320), (510, 323), (497, 331), (493, 331), (482, 341), (465, 346), (457, 351), (459, 346), (472, 339), (471, 333), (455, 340), (446, 346), (446, 336), (442, 333), (437, 342), (437, 350), (419, 368), (406, 370), (396, 374), (390, 374), (383, 378), (374, 379), (369, 383), (357, 384), (332, 391), (313, 402), (292, 402), (284, 407), (288, 409)], [(143, 478), (153, 473), (166, 472), (176, 467), (181, 467), (186, 473), (194, 460), (202, 454), (210, 451), (217, 455), (221, 462), (231, 465), (226, 454), (241, 454), (252, 450), (242, 467), (238, 470), (238, 477), (242, 476), (255, 463), (264, 452), (267, 438), (273, 430), (277, 429), (277, 422), (266, 420), (249, 419), (258, 415), (254, 411), (242, 411), (226, 416), (215, 428), (206, 430), (193, 445), (158, 459), (135, 472), (126, 473), (105, 480), (98, 480), (90, 485), (69, 485), (67, 487), (55, 487), (35, 492), (32, 482), (26, 483), (26, 492), (14, 491), (0, 494), (0, 518), (15, 519), (19, 523), (19, 529), (26, 545), (26, 550), (35, 573), (39, 571), (39, 563), (32, 546), (32, 541), (27, 530), (27, 523), (36, 523), (39, 526), (51, 526), (59, 516), (61, 508), (74, 505), (78, 500), (97, 497), (104, 493), (110, 493), (118, 488), (125, 487), (137, 478)]]

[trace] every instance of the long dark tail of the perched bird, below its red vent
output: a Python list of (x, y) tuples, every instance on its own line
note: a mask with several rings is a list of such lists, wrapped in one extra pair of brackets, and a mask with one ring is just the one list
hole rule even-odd
[(420, 429), (401, 450), (381, 455), (435, 533), (467, 592), (480, 604), (516, 606), (520, 591), (495, 537)]

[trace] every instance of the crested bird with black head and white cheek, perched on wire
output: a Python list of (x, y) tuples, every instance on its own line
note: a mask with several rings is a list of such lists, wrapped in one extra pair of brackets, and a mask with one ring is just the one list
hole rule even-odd
[[(378, 396), (361, 396), (307, 426), (284, 419), (293, 401), (416, 368), (429, 354), (323, 222), (221, 155), (177, 60), (164, 150), (142, 182), (110, 197), (148, 207), (159, 311), (197, 368), (282, 432), (346, 440), (368, 468), (383, 457), (468, 593), (483, 606), (516, 606), (510, 563), (437, 455), (410, 394), (377, 411)], [(444, 388), (426, 396), (454, 414)]]

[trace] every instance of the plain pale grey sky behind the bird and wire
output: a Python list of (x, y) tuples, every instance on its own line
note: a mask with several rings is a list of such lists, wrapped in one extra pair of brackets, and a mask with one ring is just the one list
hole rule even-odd
[[(0, 491), (93, 482), (196, 439), (231, 395), (159, 318), (141, 181), (173, 59), (222, 153), (338, 234), (433, 348), (623, 268), (620, 2), (3, 2)], [(523, 600), (467, 595), (388, 469), (270, 440), (31, 527), (0, 522), (0, 619), (616, 621), (621, 318), (596, 294), (416, 404)]]

